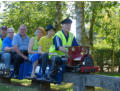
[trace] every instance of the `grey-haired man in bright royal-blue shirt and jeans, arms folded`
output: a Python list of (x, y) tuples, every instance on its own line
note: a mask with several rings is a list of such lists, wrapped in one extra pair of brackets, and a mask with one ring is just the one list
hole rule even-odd
[(1, 60), (5, 63), (6, 68), (9, 68), (11, 63), (11, 52), (13, 51), (12, 39), (14, 36), (14, 28), (8, 28), (7, 34), (8, 36), (3, 40)]

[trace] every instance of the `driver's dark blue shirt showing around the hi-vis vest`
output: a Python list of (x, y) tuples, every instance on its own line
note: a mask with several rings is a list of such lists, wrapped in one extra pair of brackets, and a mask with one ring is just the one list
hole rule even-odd
[[(66, 41), (68, 41), (69, 34), (66, 36), (65, 33), (63, 32), (63, 30), (62, 30), (62, 33), (64, 34), (64, 36), (65, 36), (65, 38), (66, 38)], [(53, 44), (55, 45), (55, 49), (56, 49), (56, 50), (58, 50), (58, 48), (59, 48), (60, 46), (63, 46), (63, 45), (62, 45), (62, 40), (61, 40), (58, 36), (55, 36), (55, 37), (54, 37), (54, 39), (53, 39)], [(78, 46), (78, 43), (77, 43), (75, 37), (73, 38), (72, 46)]]

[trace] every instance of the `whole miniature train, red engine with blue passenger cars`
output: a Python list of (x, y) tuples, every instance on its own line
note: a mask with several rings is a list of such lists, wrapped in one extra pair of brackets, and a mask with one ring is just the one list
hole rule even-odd
[[(50, 83), (58, 83), (60, 84), (62, 81), (62, 75), (64, 71), (69, 72), (80, 72), (80, 73), (91, 73), (91, 72), (98, 72), (99, 67), (94, 66), (94, 61), (92, 59), (92, 56), (89, 52), (89, 47), (85, 46), (75, 46), (75, 47), (67, 47), (68, 48), (68, 54), (66, 56), (66, 64), (63, 64), (58, 74), (55, 77), (55, 81), (51, 81), (50, 79), (42, 79), (42, 67), (41, 64), (39, 64), (36, 67), (36, 80), (39, 81), (46, 81)], [(66, 69), (65, 69), (66, 68)], [(46, 68), (46, 77), (49, 75), (51, 69), (51, 65), (48, 65)], [(0, 64), (0, 76), (1, 77), (9, 77), (9, 78), (16, 78), (16, 79), (32, 79), (30, 78), (32, 72), (32, 63), (30, 61), (24, 61), (23, 64), (20, 65), (19, 69), (19, 76), (16, 78), (14, 76), (14, 67), (11, 65), (9, 69), (5, 68), (5, 64)]]

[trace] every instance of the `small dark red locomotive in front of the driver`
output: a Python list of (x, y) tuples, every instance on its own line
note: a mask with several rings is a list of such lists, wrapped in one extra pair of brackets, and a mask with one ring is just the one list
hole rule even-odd
[(75, 46), (68, 48), (67, 64), (69, 67), (72, 67), (75, 72), (99, 72), (99, 67), (94, 66), (94, 61), (90, 55), (89, 47)]

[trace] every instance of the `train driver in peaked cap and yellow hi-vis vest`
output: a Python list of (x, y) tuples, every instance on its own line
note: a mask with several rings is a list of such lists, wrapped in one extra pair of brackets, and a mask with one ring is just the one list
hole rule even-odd
[(52, 62), (52, 68), (49, 74), (49, 79), (55, 80), (62, 58), (68, 54), (66, 46), (78, 46), (75, 36), (70, 32), (72, 20), (69, 18), (64, 19), (62, 22), (62, 29), (58, 31), (53, 37), (53, 45), (49, 49), (49, 58)]

